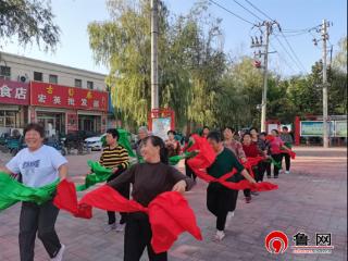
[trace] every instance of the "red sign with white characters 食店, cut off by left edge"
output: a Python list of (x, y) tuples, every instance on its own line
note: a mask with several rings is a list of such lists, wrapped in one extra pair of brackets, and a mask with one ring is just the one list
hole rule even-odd
[(29, 104), (29, 86), (21, 82), (0, 79), (0, 103)]

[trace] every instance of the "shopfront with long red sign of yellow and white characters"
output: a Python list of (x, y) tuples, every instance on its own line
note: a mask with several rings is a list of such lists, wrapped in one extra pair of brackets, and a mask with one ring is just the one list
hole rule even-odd
[(58, 133), (105, 130), (108, 92), (30, 83), (30, 121), (41, 122), (48, 136)]

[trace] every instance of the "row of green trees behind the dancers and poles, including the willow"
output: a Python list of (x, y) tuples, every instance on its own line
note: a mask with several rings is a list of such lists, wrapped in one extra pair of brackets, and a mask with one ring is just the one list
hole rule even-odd
[[(90, 47), (96, 62), (110, 69), (117, 115), (128, 125), (144, 124), (150, 111), (150, 1), (109, 0), (108, 7), (111, 20), (88, 26)], [(160, 107), (175, 111), (178, 127), (259, 126), (262, 69), (249, 57), (226, 59), (221, 20), (209, 13), (207, 1), (178, 16), (160, 1), (159, 16)], [(330, 114), (347, 112), (347, 40), (339, 45), (328, 70)], [(270, 72), (268, 119), (291, 123), (296, 115), (322, 114), (321, 84), (320, 62), (308, 75), (282, 78)]]

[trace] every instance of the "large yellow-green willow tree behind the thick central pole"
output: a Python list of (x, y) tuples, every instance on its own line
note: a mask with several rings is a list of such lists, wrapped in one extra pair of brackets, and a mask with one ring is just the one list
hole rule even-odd
[[(127, 122), (141, 124), (150, 111), (150, 1), (110, 0), (111, 21), (88, 26), (97, 63), (110, 67), (107, 78), (113, 103)], [(183, 126), (187, 120), (212, 123), (215, 88), (224, 70), (219, 23), (206, 20), (204, 4), (187, 16), (159, 9), (160, 107), (172, 108)], [(207, 15), (208, 16), (208, 15)], [(217, 21), (219, 22), (219, 21)]]

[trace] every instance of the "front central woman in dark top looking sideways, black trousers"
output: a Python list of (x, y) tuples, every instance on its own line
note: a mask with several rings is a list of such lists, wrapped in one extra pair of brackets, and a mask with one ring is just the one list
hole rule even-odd
[[(120, 189), (126, 183), (133, 184), (132, 197), (134, 200), (148, 204), (164, 191), (184, 192), (189, 190), (194, 181), (167, 165), (165, 145), (160, 137), (149, 136), (144, 139), (141, 154), (145, 163), (133, 165), (109, 186)], [(144, 212), (128, 215), (124, 236), (124, 260), (138, 261), (147, 247), (149, 260), (167, 260), (166, 252), (154, 253), (151, 247), (151, 226), (149, 217)]]

